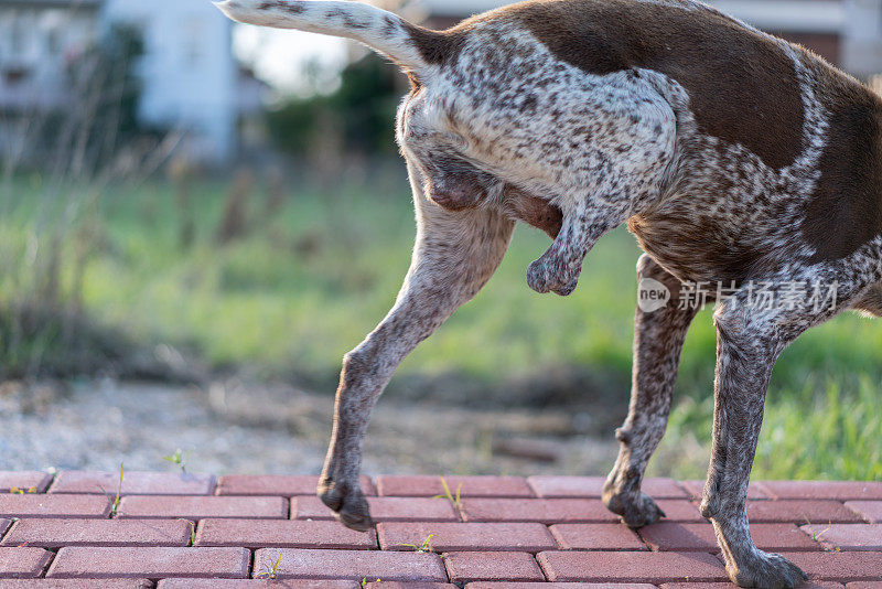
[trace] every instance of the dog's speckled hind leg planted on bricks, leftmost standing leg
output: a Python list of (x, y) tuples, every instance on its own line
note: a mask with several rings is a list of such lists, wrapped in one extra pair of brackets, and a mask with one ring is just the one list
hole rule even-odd
[(502, 260), (514, 222), (475, 208), (445, 212), (422, 195), (410, 167), (418, 215), (413, 258), (395, 307), (343, 358), (334, 427), (319, 483), (321, 500), (354, 529), (372, 525), (358, 484), (362, 443), (370, 410), (398, 364), (486, 283)]

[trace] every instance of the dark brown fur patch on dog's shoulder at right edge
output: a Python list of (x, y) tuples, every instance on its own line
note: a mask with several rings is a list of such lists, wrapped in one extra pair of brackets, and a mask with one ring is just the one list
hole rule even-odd
[(830, 136), (802, 228), (818, 263), (849, 256), (882, 233), (882, 100), (831, 68), (816, 71)]

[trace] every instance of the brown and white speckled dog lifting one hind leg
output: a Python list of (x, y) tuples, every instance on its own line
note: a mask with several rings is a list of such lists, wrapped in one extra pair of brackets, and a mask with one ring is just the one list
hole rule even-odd
[[(356, 2), (218, 7), (239, 22), (361, 41), (411, 82), (396, 136), (417, 210), (412, 264), (395, 307), (343, 360), (318, 490), (344, 525), (370, 526), (358, 473), (374, 403), (487, 281), (515, 223), (553, 238), (527, 282), (559, 294), (598, 239), (627, 223), (645, 251), (641, 283), (671, 302), (636, 312), (631, 408), (603, 501), (632, 527), (664, 516), (641, 481), (700, 307), (675, 302), (724, 285), (702, 300), (717, 303), (718, 364), (700, 511), (735, 583), (806, 579), (751, 539), (747, 481), (781, 352), (842, 310), (882, 312), (882, 100), (697, 0), (530, 0), (447, 31)], [(821, 285), (836, 287), (825, 304)], [(772, 302), (757, 304), (759, 290)]]

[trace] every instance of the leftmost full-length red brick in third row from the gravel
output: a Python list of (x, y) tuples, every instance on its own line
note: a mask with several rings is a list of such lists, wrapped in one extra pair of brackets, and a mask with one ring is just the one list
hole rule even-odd
[(186, 546), (190, 531), (180, 520), (21, 520), (0, 546)]

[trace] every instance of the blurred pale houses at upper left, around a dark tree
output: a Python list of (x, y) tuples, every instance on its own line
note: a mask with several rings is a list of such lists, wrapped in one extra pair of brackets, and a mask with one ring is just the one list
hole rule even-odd
[(66, 67), (115, 23), (143, 38), (141, 122), (184, 131), (192, 159), (237, 154), (266, 87), (236, 63), (232, 23), (201, 0), (0, 0), (0, 132), (69, 104)]

